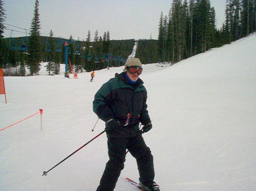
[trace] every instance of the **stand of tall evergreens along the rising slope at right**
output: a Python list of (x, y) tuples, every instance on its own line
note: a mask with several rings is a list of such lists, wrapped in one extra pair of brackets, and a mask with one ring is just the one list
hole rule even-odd
[(255, 31), (255, 1), (227, 0), (226, 20), (216, 29), (209, 0), (176, 0), (168, 16), (160, 15), (158, 61), (179, 62)]

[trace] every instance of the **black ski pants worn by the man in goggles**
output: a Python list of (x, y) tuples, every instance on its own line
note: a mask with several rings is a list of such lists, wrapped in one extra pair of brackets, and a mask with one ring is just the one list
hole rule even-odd
[(96, 191), (113, 191), (124, 168), (126, 148), (137, 160), (139, 176), (144, 185), (152, 184), (155, 172), (153, 156), (141, 134), (127, 138), (108, 138), (109, 161)]

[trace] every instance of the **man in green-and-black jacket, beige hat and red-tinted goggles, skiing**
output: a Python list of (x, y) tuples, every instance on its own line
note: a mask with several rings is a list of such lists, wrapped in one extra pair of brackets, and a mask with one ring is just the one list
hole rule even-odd
[[(147, 91), (143, 81), (142, 63), (130, 58), (123, 73), (104, 83), (93, 101), (93, 111), (106, 122), (109, 161), (96, 191), (113, 191), (124, 168), (126, 148), (137, 160), (140, 185), (149, 191), (160, 191), (154, 182), (154, 163), (142, 133), (152, 128), (147, 111)], [(139, 130), (139, 122), (142, 130)]]

